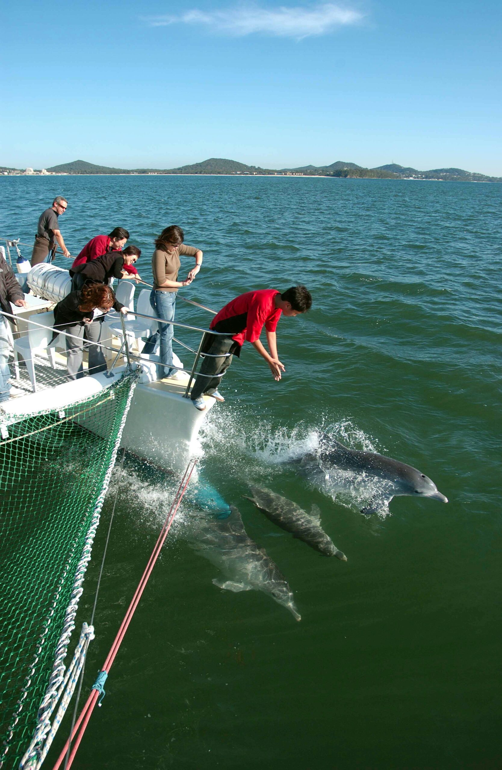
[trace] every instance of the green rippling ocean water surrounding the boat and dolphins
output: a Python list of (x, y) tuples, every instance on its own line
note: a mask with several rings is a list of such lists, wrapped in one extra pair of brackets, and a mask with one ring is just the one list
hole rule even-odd
[[(60, 221), (72, 253), (125, 226), (149, 281), (152, 239), (176, 223), (204, 251), (189, 298), (217, 310), (251, 288), (301, 281), (314, 300), (279, 322), (283, 380), (246, 346), (201, 434), (201, 475), (239, 507), (302, 621), (265, 594), (216, 588), (218, 570), (183, 537), (182, 510), (73, 766), (500, 768), (502, 186), (7, 177), (0, 235), (31, 243), (57, 194), (69, 200)], [(176, 313), (207, 320), (182, 302)], [(283, 461), (319, 431), (419, 468), (449, 503), (397, 497), (387, 516), (363, 517), (364, 489), (313, 484)], [(79, 611), (89, 619), (118, 486), (85, 688), (175, 484), (131, 458), (125, 467)], [(274, 527), (243, 498), (249, 481), (318, 505), (348, 561)]]

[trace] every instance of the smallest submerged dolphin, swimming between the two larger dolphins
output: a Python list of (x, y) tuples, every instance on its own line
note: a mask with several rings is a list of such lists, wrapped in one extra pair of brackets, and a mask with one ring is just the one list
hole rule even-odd
[(322, 529), (320, 524), (320, 511), (316, 505), (312, 507), (312, 514), (307, 514), (300, 506), (281, 497), (269, 489), (260, 489), (259, 487), (249, 486), (253, 497), (248, 497), (260, 511), (277, 524), (281, 529), (290, 532), (293, 537), (298, 537), (304, 543), (315, 548), (324, 556), (336, 556), (342, 561), (346, 561), (346, 555), (339, 551), (333, 541)]

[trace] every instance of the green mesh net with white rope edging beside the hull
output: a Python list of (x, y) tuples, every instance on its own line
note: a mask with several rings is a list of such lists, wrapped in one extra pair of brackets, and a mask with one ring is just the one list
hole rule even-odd
[(18, 767), (42, 698), (62, 669), (135, 384), (136, 374), (125, 374), (64, 412), (19, 420), (5, 413), (2, 419), (0, 411), (4, 770)]

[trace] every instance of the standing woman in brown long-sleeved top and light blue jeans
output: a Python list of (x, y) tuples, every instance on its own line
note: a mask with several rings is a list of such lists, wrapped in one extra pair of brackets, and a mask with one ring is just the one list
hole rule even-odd
[[(150, 304), (156, 311), (156, 316), (166, 321), (174, 320), (176, 307), (176, 293), (182, 286), (189, 286), (199, 273), (202, 265), (202, 251), (194, 246), (185, 246), (183, 239), (185, 234), (181, 227), (171, 225), (162, 230), (156, 239), (156, 250), (152, 257), (153, 290), (150, 295)], [(195, 267), (189, 271), (184, 281), (178, 280), (178, 271), (181, 266), (179, 255), (194, 256)], [(149, 338), (142, 353), (154, 353), (160, 337), (160, 365), (159, 377), (176, 377), (177, 370), (172, 364), (172, 323), (159, 323), (159, 331)]]

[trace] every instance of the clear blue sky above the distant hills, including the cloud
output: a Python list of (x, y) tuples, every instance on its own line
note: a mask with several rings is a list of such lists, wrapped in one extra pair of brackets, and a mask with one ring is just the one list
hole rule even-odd
[(1, 165), (222, 157), (502, 176), (498, 0), (9, 5)]

